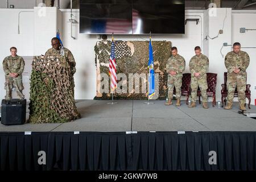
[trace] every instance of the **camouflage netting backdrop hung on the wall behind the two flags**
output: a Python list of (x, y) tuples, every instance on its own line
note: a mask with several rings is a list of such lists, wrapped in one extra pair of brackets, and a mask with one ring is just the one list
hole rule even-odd
[[(148, 41), (115, 41), (115, 60), (117, 62), (117, 74), (124, 73), (125, 79), (118, 77), (117, 92), (114, 94), (115, 99), (123, 100), (146, 100), (146, 88), (147, 88), (147, 74), (148, 74)], [(167, 96), (167, 72), (166, 63), (170, 57), (171, 42), (167, 41), (152, 41), (154, 52), (154, 70), (155, 70), (155, 88), (156, 94), (153, 99), (163, 100)], [(111, 97), (109, 91), (104, 93), (104, 90), (110, 90), (110, 79), (104, 81), (103, 75), (109, 75), (109, 57), (110, 57), (111, 42), (99, 41), (94, 47), (96, 53), (96, 67), (97, 67), (97, 96), (94, 99), (108, 100)], [(129, 73), (138, 73), (138, 75), (146, 75), (142, 78), (142, 81), (134, 79), (133, 86), (129, 85)], [(159, 74), (159, 77), (158, 77)], [(138, 75), (134, 77), (138, 78)], [(131, 79), (130, 79), (131, 80)], [(107, 83), (107, 84), (106, 84)], [(137, 84), (136, 84), (137, 83)], [(143, 84), (143, 85), (142, 85)], [(139, 85), (137, 88), (134, 85)], [(145, 88), (146, 85), (146, 88)], [(109, 88), (105, 88), (109, 87)], [(131, 88), (129, 88), (129, 86)], [(140, 90), (134, 92), (135, 90)], [(143, 92), (144, 91), (144, 92)]]

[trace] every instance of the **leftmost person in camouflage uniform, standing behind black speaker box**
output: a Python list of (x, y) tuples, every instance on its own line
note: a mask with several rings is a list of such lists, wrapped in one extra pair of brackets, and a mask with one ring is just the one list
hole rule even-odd
[(25, 62), (22, 57), (16, 55), (16, 47), (10, 48), (11, 55), (5, 57), (3, 60), (3, 71), (5, 72), (5, 90), (6, 90), (6, 100), (11, 100), (11, 92), (13, 86), (16, 89), (16, 93), (19, 99), (24, 99), (22, 90), (24, 89), (22, 83), (22, 72), (24, 69)]

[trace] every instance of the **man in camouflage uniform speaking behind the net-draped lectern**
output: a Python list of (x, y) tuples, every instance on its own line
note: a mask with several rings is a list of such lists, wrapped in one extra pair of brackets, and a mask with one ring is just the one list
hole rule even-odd
[[(52, 48), (48, 49), (46, 51), (46, 54), (44, 55), (44, 57), (49, 57), (49, 56), (57, 56), (57, 57), (61, 57), (61, 51), (60, 51), (60, 40), (58, 38), (52, 38)], [(71, 89), (72, 89), (72, 94), (74, 94), (74, 88), (75, 88), (75, 81), (74, 81), (74, 77), (73, 75), (76, 72), (76, 61), (71, 53), (71, 51), (69, 51), (69, 49), (64, 48), (64, 56), (65, 59), (68, 61), (69, 65), (71, 66)]]

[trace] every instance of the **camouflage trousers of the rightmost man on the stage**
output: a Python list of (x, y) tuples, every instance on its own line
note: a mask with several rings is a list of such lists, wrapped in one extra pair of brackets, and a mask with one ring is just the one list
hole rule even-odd
[(228, 103), (233, 102), (234, 91), (236, 90), (236, 87), (238, 92), (238, 101), (240, 104), (245, 104), (246, 75), (236, 73), (228, 74)]

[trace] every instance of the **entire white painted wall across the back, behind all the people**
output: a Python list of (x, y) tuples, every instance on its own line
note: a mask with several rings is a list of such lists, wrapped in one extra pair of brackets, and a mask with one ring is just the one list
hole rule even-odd
[[(226, 16), (227, 10), (227, 16)], [(0, 9), (0, 22), (5, 28), (0, 28), (0, 40), (5, 44), (0, 44), (0, 60), (3, 60), (5, 56), (9, 55), (9, 48), (16, 46), (18, 48), (18, 55), (20, 56), (33, 56), (35, 53), (39, 54), (38, 48), (40, 47), (40, 53), (45, 52), (47, 48), (51, 47), (50, 38), (44, 37), (42, 42), (35, 43), (35, 39), (39, 36), (34, 32), (38, 31), (35, 27), (34, 14), (33, 13), (21, 13), (20, 14), (20, 34), (18, 34), (18, 13), (24, 11), (23, 9)], [(25, 11), (34, 11), (33, 9), (25, 9)], [(62, 20), (55, 21), (53, 18), (46, 24), (47, 26), (60, 27), (62, 23), (61, 39), (64, 46), (70, 49), (76, 59), (77, 72), (75, 74), (75, 98), (76, 99), (93, 99), (96, 96), (96, 65), (95, 65), (95, 53), (94, 46), (97, 39), (97, 35), (85, 35), (79, 34), (79, 24), (73, 24), (73, 36), (76, 39), (71, 38), (71, 23), (70, 10), (61, 10)], [(231, 44), (236, 41), (242, 43), (242, 46), (254, 46), (255, 47), (255, 32), (246, 32), (245, 34), (239, 33), (240, 27), (255, 28), (256, 16), (255, 14), (248, 14), (245, 11), (242, 14), (234, 13), (230, 9), (217, 9), (216, 16), (209, 17), (208, 11), (205, 10), (186, 10), (185, 18), (199, 18), (199, 24), (196, 22), (187, 22), (185, 26), (184, 35), (152, 35), (152, 40), (167, 40), (172, 42), (172, 46), (176, 46), (179, 49), (180, 55), (184, 56), (186, 60), (185, 72), (189, 72), (188, 63), (191, 57), (194, 55), (193, 48), (200, 46), (203, 48), (203, 53), (209, 57), (210, 66), (209, 72), (218, 73), (218, 85), (217, 85), (217, 101), (220, 100), (221, 83), (223, 82), (223, 72), (226, 71), (224, 65), (224, 58), (221, 56), (220, 49), (224, 42)], [(240, 12), (240, 11), (239, 11)], [(79, 10), (73, 10), (75, 19), (79, 22)], [(216, 36), (218, 30), (220, 30), (224, 24), (224, 34), (218, 36), (214, 40), (205, 40), (205, 36)], [(44, 26), (40, 27), (40, 30)], [(54, 28), (51, 28), (51, 34), (55, 35)], [(42, 31), (42, 30), (41, 30)], [(61, 31), (61, 30), (60, 30)], [(43, 36), (43, 34), (40, 34)], [(49, 39), (49, 40), (48, 40)], [(110, 40), (110, 37), (108, 38)], [(148, 40), (147, 35), (115, 35), (115, 40)], [(43, 48), (43, 49), (42, 49)], [(45, 49), (45, 50), (44, 50)], [(222, 53), (225, 55), (231, 50), (231, 47), (224, 47)], [(253, 79), (255, 49), (246, 49), (251, 57), (251, 64), (248, 68), (248, 82), (252, 85), (256, 85), (255, 79)], [(31, 60), (29, 60), (31, 61)], [(26, 67), (30, 67), (30, 64), (26, 64)], [(0, 68), (0, 97), (5, 96), (4, 73), (2, 71), (2, 65)], [(28, 85), (27, 85), (28, 86)], [(252, 98), (255, 97), (255, 91), (252, 89)], [(26, 95), (28, 98), (29, 95)]]

